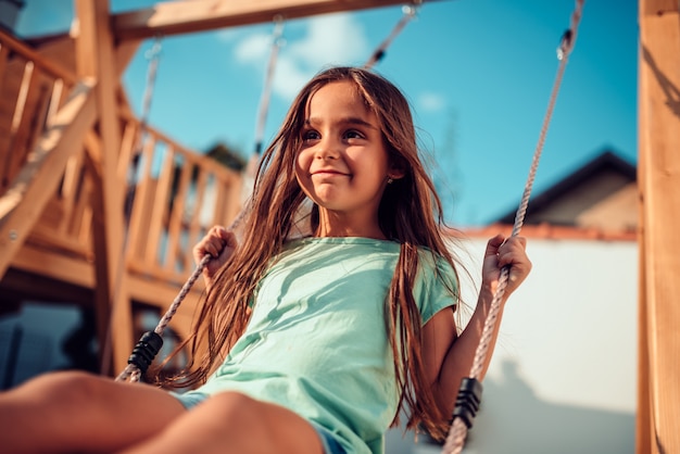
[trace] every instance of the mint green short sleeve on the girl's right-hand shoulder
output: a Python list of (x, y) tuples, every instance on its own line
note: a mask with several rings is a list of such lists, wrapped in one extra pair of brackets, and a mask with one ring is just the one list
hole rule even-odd
[(414, 298), (423, 325), (439, 311), (455, 306), (458, 301), (458, 281), (451, 264), (441, 256), (433, 257), (429, 252), (421, 252), (418, 280)]

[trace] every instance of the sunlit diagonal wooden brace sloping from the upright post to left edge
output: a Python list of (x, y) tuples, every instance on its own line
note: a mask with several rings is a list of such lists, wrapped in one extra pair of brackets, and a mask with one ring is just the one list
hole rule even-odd
[(66, 162), (80, 150), (85, 133), (95, 123), (95, 109), (92, 85), (78, 84), (0, 198), (0, 277), (54, 196)]

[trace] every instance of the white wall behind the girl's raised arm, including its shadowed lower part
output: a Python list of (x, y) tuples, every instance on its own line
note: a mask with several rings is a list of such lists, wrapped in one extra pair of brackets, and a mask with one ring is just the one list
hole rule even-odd
[[(484, 244), (469, 244), (475, 274)], [(530, 239), (527, 249), (533, 269), (506, 305), (464, 452), (632, 454), (637, 243)], [(441, 452), (412, 439), (392, 431), (387, 453)]]

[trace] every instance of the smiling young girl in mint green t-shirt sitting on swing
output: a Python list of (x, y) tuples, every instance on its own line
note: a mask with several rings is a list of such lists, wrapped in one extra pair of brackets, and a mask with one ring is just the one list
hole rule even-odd
[(396, 416), (449, 429), (500, 269), (531, 264), (492, 238), (457, 332), (457, 275), (408, 104), (382, 77), (335, 67), (294, 100), (263, 155), (242, 238), (214, 227), (194, 257), (207, 294), (190, 371), (165, 384), (84, 373), (0, 395), (5, 452), (381, 453)]

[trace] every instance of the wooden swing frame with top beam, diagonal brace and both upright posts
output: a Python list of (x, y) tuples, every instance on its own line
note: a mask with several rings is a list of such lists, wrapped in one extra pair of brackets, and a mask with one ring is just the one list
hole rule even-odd
[[(264, 3), (264, 4), (263, 4)], [(124, 219), (116, 155), (121, 76), (141, 40), (324, 13), (401, 4), (395, 0), (181, 0), (112, 15), (109, 2), (75, 0), (78, 85), (52, 128), (38, 141), (36, 161), (21, 169), (0, 197), (0, 277), (16, 257), (66, 159), (88, 142), (93, 171), (92, 206), (96, 306), (100, 333), (109, 323), (131, 332), (131, 303), (121, 269)], [(637, 453), (680, 452), (680, 3), (639, 0), (639, 390)], [(7, 52), (5, 48), (0, 52)], [(1, 56), (1, 55), (0, 55)], [(2, 61), (2, 59), (0, 59)], [(2, 68), (0, 68), (2, 70)], [(114, 291), (115, 287), (115, 291)], [(113, 308), (113, 311), (112, 311)], [(111, 314), (111, 320), (109, 320)], [(100, 335), (101, 337), (101, 335)], [(133, 337), (113, 344), (114, 370), (125, 366)]]

